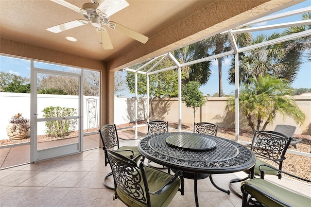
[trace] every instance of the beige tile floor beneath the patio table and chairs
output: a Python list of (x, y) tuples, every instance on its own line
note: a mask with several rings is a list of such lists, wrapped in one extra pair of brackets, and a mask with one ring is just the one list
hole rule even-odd
[[(123, 141), (121, 145), (135, 145), (137, 141)], [(100, 148), (33, 164), (0, 171), (1, 207), (123, 207), (113, 201), (113, 190), (103, 185), (104, 175), (110, 172), (104, 166), (104, 151)], [(227, 188), (230, 179), (245, 174), (213, 175), (220, 187)], [(276, 176), (274, 176), (276, 177)], [(287, 178), (278, 181), (288, 188), (311, 195), (311, 185)], [(237, 186), (239, 188), (239, 186)], [(242, 200), (231, 193), (215, 189), (209, 179), (198, 181), (200, 207), (241, 207)], [(193, 180), (185, 179), (185, 195), (177, 192), (169, 207), (193, 207)]]

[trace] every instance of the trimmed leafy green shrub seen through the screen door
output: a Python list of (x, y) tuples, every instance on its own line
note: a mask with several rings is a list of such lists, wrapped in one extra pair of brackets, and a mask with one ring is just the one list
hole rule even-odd
[[(43, 109), (44, 118), (53, 117), (71, 117), (77, 114), (75, 108), (67, 108), (60, 106), (49, 106)], [(77, 120), (57, 120), (57, 121), (46, 121), (45, 126), (47, 127), (46, 133), (49, 136), (62, 137), (72, 132), (77, 124)]]

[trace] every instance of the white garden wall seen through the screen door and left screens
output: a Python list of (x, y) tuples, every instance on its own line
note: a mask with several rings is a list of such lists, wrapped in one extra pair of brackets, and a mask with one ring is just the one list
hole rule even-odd
[[(99, 97), (84, 96), (83, 99), (84, 129), (97, 128), (99, 124)], [(9, 124), (9, 120), (12, 118), (12, 116), (19, 112), (24, 118), (30, 119), (30, 94), (0, 92), (0, 103), (0, 139), (7, 139), (8, 137), (6, 134), (6, 127)], [(78, 96), (38, 94), (38, 118), (42, 118), (42, 110), (48, 106), (75, 108), (78, 112)], [(96, 111), (94, 111), (95, 109)], [(43, 122), (39, 122), (37, 125), (37, 135), (46, 134), (45, 130), (45, 124)]]

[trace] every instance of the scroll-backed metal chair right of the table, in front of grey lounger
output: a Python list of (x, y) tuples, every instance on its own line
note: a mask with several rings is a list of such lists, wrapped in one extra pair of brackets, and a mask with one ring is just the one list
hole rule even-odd
[[(279, 170), (282, 170), (283, 161), (286, 159), (285, 153), (287, 148), (291, 143), (292, 138), (288, 138), (285, 135), (274, 132), (274, 131), (256, 131), (254, 134), (254, 138), (251, 144), (250, 149), (255, 153), (257, 160), (255, 164), (255, 175), (260, 175), (259, 166), (260, 165), (268, 165), (274, 168), (272, 165), (268, 164), (263, 160), (270, 160), (274, 162)], [(282, 178), (282, 174), (271, 168), (263, 167), (262, 170), (266, 172), (266, 174), (277, 175), (278, 179)], [(248, 176), (245, 178), (235, 178), (230, 180), (229, 188), (231, 191), (236, 193), (238, 196), (242, 197), (236, 190), (233, 189), (232, 183), (237, 183), (244, 181), (246, 179), (250, 179), (251, 170), (244, 171)]]

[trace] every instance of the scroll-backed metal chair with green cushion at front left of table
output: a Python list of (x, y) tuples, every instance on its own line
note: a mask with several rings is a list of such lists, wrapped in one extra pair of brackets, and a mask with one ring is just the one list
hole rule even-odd
[(119, 151), (105, 149), (114, 177), (115, 194), (129, 207), (165, 207), (170, 204), (179, 190), (181, 171), (171, 175), (139, 164), (136, 158), (129, 159)]

